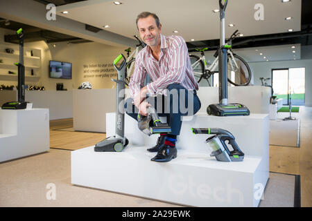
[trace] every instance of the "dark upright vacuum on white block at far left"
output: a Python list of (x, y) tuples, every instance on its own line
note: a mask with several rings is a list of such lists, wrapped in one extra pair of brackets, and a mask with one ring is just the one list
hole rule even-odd
[(2, 109), (25, 109), (25, 66), (24, 66), (24, 32), (21, 28), (17, 30), (17, 38), (19, 39), (19, 63), (15, 63), (18, 68), (18, 99), (17, 102), (6, 102), (1, 106)]

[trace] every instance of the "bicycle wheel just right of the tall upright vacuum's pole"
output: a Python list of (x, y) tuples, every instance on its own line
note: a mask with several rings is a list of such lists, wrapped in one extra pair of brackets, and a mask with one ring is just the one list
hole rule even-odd
[(247, 86), (250, 80), (251, 70), (247, 62), (239, 55), (234, 55), (234, 60), (229, 56), (227, 58), (227, 81), (234, 86)]

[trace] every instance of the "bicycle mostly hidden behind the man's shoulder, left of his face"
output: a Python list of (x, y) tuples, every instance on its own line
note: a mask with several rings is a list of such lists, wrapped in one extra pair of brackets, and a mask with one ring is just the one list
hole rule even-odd
[(130, 82), (130, 78), (135, 70), (135, 57), (137, 57), (137, 54), (139, 53), (140, 48), (144, 48), (146, 46), (146, 44), (141, 41), (137, 35), (134, 35), (133, 37), (135, 37), (137, 39), (137, 41), (139, 41), (139, 44), (137, 44), (135, 50), (130, 54), (131, 52), (131, 48), (127, 48), (125, 49), (125, 52), (127, 52), (127, 67), (125, 68), (125, 84), (128, 86), (129, 82)]

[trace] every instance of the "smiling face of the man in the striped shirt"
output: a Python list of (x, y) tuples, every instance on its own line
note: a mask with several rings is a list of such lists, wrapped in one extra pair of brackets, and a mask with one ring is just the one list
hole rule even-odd
[(157, 28), (156, 21), (152, 16), (137, 21), (137, 28), (141, 39), (150, 47), (155, 47), (160, 44), (160, 33), (162, 25)]

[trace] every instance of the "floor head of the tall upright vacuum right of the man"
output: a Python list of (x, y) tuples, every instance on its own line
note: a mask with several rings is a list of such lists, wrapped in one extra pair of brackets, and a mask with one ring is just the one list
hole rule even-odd
[(243, 104), (210, 104), (207, 113), (216, 116), (250, 115), (249, 109)]

